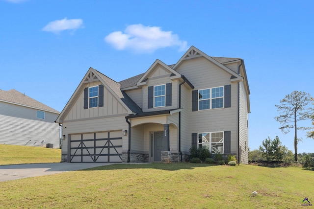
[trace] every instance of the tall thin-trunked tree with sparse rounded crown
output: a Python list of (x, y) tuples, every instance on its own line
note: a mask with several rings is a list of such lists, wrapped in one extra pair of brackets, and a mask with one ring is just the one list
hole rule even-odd
[(294, 160), (298, 160), (298, 138), (297, 130), (309, 130), (310, 127), (298, 127), (297, 122), (310, 119), (313, 110), (309, 107), (312, 97), (309, 93), (294, 91), (280, 100), (280, 105), (276, 105), (280, 115), (275, 119), (282, 124), (279, 128), (284, 134), (294, 128)]

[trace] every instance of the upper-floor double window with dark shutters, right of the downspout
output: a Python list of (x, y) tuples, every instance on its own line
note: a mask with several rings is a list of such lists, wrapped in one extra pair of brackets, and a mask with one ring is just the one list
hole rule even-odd
[(198, 91), (198, 110), (224, 107), (224, 87), (202, 89)]

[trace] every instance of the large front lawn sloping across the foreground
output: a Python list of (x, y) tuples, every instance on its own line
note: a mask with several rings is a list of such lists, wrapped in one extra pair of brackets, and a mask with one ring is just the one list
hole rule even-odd
[[(305, 197), (314, 202), (314, 171), (254, 165), (114, 164), (0, 182), (0, 187), (0, 208), (299, 209), (304, 208)], [(253, 191), (258, 195), (252, 196)]]

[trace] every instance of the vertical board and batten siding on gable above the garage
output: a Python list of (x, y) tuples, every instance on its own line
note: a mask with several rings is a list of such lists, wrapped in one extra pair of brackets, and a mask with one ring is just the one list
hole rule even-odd
[[(86, 84), (85, 87), (93, 87), (100, 84), (101, 82), (91, 82)], [(128, 111), (104, 86), (104, 107), (84, 109), (84, 91), (81, 91), (78, 99), (72, 105), (71, 110), (64, 117), (63, 121), (101, 116), (114, 116), (127, 113)]]

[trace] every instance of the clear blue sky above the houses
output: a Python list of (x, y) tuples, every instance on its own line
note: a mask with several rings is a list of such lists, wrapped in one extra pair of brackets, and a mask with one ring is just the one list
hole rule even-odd
[[(312, 0), (0, 0), (0, 16), (0, 89), (60, 112), (89, 67), (121, 81), (190, 46), (244, 59), (251, 150), (278, 136), (293, 151), (275, 105), (295, 90), (314, 96)], [(305, 134), (298, 152), (314, 152)]]

